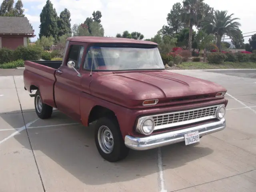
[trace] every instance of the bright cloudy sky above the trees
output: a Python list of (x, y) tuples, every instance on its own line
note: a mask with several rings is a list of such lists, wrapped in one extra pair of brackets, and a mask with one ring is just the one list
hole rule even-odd
[[(2, 0), (0, 0), (2, 3)], [(68, 8), (71, 14), (71, 24), (80, 24), (87, 17), (92, 16), (92, 12), (100, 10), (102, 12), (102, 22), (105, 36), (116, 36), (124, 30), (129, 32), (137, 31), (144, 35), (144, 38), (153, 37), (163, 25), (167, 24), (167, 14), (176, 2), (182, 4), (182, 0), (51, 0), (56, 12), (59, 15), (64, 8)], [(204, 0), (215, 10), (227, 10), (228, 14), (234, 13), (233, 17), (240, 18), (240, 30), (244, 36), (256, 31), (256, 14), (254, 13), (256, 1), (244, 0), (236, 2), (234, 0)], [(14, 0), (14, 4), (16, 0)], [(25, 16), (35, 30), (38, 38), (40, 13), (46, 0), (22, 0)], [(245, 37), (245, 43), (249, 37)], [(231, 41), (231, 40), (225, 40)]]

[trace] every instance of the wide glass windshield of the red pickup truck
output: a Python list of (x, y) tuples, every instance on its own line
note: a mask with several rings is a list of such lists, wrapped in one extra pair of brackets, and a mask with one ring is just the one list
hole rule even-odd
[(105, 47), (89, 48), (84, 68), (87, 70), (164, 69), (158, 48)]

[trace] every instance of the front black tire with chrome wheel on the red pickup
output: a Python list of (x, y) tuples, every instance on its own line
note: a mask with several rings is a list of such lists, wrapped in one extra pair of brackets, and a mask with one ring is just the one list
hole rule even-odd
[[(112, 145), (112, 150), (104, 151), (103, 149), (105, 148), (104, 144), (102, 144), (101, 141), (101, 133), (102, 130), (104, 133), (108, 133), (110, 131), (110, 134), (112, 134), (112, 140), (114, 141), (114, 144)], [(105, 130), (105, 131), (104, 131)], [(99, 136), (98, 136), (99, 134)], [(124, 158), (129, 153), (129, 148), (127, 148), (124, 144), (124, 140), (122, 138), (122, 134), (120, 132), (120, 128), (118, 125), (118, 122), (116, 118), (112, 117), (103, 117), (97, 120), (95, 124), (95, 133), (94, 133), (94, 138), (95, 138), (95, 144), (98, 149), (98, 152), (104, 158), (105, 160), (109, 162), (117, 162), (120, 161)], [(109, 139), (109, 141), (111, 138)], [(102, 149), (103, 148), (103, 149)], [(106, 148), (105, 148), (106, 149)]]

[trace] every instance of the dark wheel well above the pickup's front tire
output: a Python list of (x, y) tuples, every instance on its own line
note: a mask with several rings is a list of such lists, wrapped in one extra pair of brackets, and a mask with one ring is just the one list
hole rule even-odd
[(90, 115), (88, 118), (88, 125), (91, 122), (94, 122), (97, 119), (104, 117), (104, 116), (111, 116), (111, 117), (116, 118), (116, 114), (112, 110), (110, 110), (106, 107), (99, 106), (99, 105), (94, 106), (92, 108), (92, 110), (90, 111)]

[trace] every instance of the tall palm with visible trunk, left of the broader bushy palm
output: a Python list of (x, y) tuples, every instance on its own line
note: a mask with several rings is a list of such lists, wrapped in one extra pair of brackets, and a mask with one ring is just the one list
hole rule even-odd
[(191, 50), (192, 46), (192, 31), (193, 26), (198, 25), (199, 23), (199, 15), (202, 10), (202, 6), (204, 6), (204, 0), (184, 0), (183, 1), (183, 13), (182, 13), (182, 21), (189, 28), (189, 36), (188, 36), (188, 50)]

